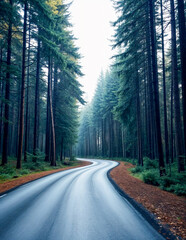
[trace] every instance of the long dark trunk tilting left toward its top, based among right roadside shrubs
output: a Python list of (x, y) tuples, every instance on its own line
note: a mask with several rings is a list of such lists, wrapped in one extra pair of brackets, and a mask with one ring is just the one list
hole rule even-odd
[(152, 72), (153, 72), (154, 103), (155, 103), (155, 117), (156, 117), (156, 134), (157, 134), (158, 155), (159, 155), (159, 170), (160, 170), (160, 176), (163, 176), (165, 175), (165, 164), (163, 159), (163, 147), (162, 147), (161, 125), (160, 125), (156, 32), (155, 32), (155, 22), (154, 22), (154, 0), (149, 0), (149, 10), (150, 10)]

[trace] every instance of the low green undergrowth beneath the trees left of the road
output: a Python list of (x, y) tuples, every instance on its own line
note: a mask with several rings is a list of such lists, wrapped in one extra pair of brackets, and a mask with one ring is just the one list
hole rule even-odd
[(28, 157), (27, 162), (22, 162), (21, 169), (16, 169), (16, 158), (9, 157), (7, 165), (0, 166), (0, 183), (33, 173), (66, 168), (69, 166), (77, 166), (78, 163), (79, 162), (75, 159), (70, 161), (68, 158), (66, 158), (63, 162), (56, 161), (56, 166), (50, 166), (50, 163), (45, 162), (43, 159), (38, 159), (36, 162), (33, 162), (32, 157), (30, 156)]

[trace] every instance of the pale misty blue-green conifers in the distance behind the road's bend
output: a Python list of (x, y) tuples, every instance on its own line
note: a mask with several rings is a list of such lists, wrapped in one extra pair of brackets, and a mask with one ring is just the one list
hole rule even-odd
[[(110, 128), (109, 125), (114, 124), (114, 121), (117, 122), (117, 125), (120, 124), (114, 116), (114, 107), (118, 101), (117, 89), (119, 81), (120, 79), (117, 74), (115, 74), (114, 69), (111, 69), (106, 73), (100, 73), (94, 98), (92, 102), (82, 110), (80, 115), (81, 124), (79, 127), (77, 146), (79, 156), (111, 157), (109, 156), (108, 150), (108, 138), (110, 138), (108, 128)], [(103, 137), (103, 125), (105, 128), (105, 144), (102, 144), (102, 147), (100, 147), (101, 144), (95, 146), (98, 145), (98, 141), (94, 140), (95, 137), (98, 135), (102, 135)], [(118, 141), (116, 136), (113, 137)], [(88, 147), (88, 141), (90, 141), (91, 144), (90, 148)]]

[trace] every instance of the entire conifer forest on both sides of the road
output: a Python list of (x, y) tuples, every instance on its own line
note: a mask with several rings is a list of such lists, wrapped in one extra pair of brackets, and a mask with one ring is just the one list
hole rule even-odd
[(56, 166), (77, 155), (133, 159), (134, 172), (149, 165), (159, 176), (185, 176), (185, 3), (112, 2), (117, 54), (79, 113), (83, 73), (70, 3), (0, 1), (2, 166), (10, 159), (17, 169), (40, 160)]

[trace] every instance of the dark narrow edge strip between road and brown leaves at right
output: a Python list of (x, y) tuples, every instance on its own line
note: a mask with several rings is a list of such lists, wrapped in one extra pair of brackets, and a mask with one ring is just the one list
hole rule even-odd
[(142, 217), (156, 230), (158, 231), (165, 239), (168, 240), (182, 240), (179, 236), (175, 236), (169, 229), (168, 227), (166, 228), (161, 224), (161, 222), (155, 217), (154, 214), (152, 214), (150, 211), (148, 211), (142, 204), (138, 203), (135, 201), (133, 198), (131, 198), (127, 193), (123, 191), (123, 189), (120, 188), (120, 186), (112, 179), (110, 176), (110, 172), (118, 167), (120, 165), (119, 162), (117, 162), (118, 165), (113, 167), (107, 172), (107, 177), (116, 189), (116, 191), (123, 197), (125, 198), (133, 207), (136, 209)]

